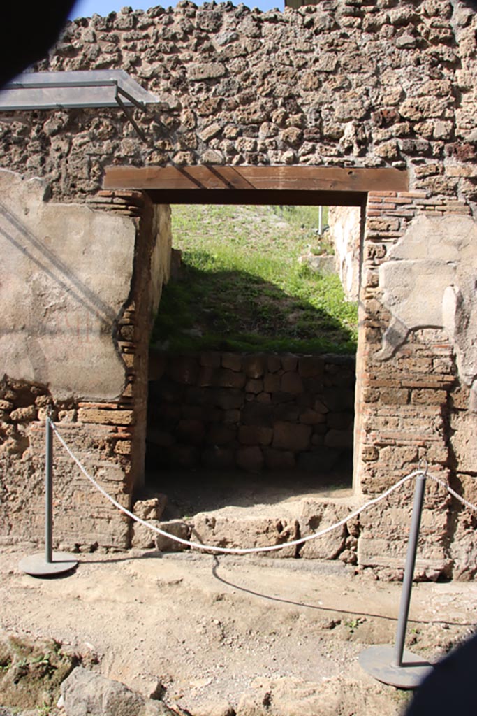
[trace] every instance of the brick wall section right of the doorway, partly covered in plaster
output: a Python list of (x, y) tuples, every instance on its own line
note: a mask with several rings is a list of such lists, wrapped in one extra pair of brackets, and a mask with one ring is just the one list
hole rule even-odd
[[(355, 478), (366, 494), (379, 493), (398, 475), (409, 473), (421, 458), (428, 460), (432, 473), (444, 483), (472, 494), (469, 487), (476, 465), (468, 462), (464, 467), (464, 461), (457, 465), (453, 458), (458, 437), (451, 437), (451, 423), (462, 415), (470, 424), (476, 423), (468, 410), (471, 391), (457, 375), (455, 349), (443, 329), (441, 304), (449, 276), (430, 263), (431, 256), (421, 253), (424, 248), (433, 254), (433, 236), (458, 226), (461, 248), (468, 251), (475, 246), (476, 226), (469, 212), (464, 202), (427, 198), (425, 193), (384, 192), (369, 197), (360, 304), (363, 341), (357, 357), (360, 400), (355, 417)], [(459, 251), (458, 241), (452, 236), (449, 241), (453, 251), (447, 247), (444, 253), (449, 265), (458, 266), (453, 256)], [(408, 259), (408, 266), (397, 262), (403, 271), (401, 279), (408, 276), (401, 294), (406, 309), (408, 300), (415, 301), (415, 310), (410, 311), (412, 325), (400, 323), (403, 304), (396, 296), (386, 296), (383, 278), (399, 246), (401, 252), (407, 246), (414, 257)], [(467, 265), (467, 261), (462, 263)], [(395, 281), (394, 289), (399, 285)], [(433, 317), (426, 314), (426, 307), (434, 311)], [(451, 504), (436, 483), (428, 485), (426, 494), (421, 558), (428, 563), (428, 576), (473, 576), (476, 569), (469, 541), (473, 518), (458, 504)], [(378, 516), (364, 513), (360, 518), (358, 560), (363, 565), (392, 566), (402, 561), (403, 525), (410, 519), (410, 503), (397, 495), (391, 496), (390, 506)]]

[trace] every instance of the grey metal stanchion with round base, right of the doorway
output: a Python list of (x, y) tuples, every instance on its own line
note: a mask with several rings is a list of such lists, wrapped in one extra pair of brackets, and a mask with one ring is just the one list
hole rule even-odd
[(408, 626), (410, 592), (413, 588), (415, 553), (418, 548), (419, 527), (423, 511), (424, 488), (426, 487), (426, 468), (415, 481), (413, 516), (410, 523), (408, 553), (405, 560), (403, 591), (400, 598), (398, 626), (396, 628), (395, 646), (370, 647), (359, 657), (360, 665), (385, 684), (401, 689), (415, 689), (432, 666), (421, 657), (417, 657), (404, 649), (405, 632)]

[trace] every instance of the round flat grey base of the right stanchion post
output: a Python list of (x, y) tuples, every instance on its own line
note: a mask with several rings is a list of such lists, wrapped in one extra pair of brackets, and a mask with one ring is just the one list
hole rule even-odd
[(431, 673), (432, 665), (404, 650), (402, 667), (393, 666), (394, 647), (370, 647), (358, 657), (360, 666), (371, 676), (398, 689), (417, 689)]

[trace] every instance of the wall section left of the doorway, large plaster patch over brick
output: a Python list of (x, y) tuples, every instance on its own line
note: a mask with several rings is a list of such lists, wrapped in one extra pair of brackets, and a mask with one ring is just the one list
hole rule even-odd
[[(44, 533), (47, 412), (85, 468), (131, 505), (144, 474), (148, 336), (159, 300), (149, 276), (160, 254), (167, 279), (170, 231), (168, 208), (137, 193), (104, 192), (91, 208), (45, 204), (39, 180), (1, 180), (0, 539), (11, 542)], [(127, 547), (127, 520), (57, 442), (54, 452), (55, 543)]]

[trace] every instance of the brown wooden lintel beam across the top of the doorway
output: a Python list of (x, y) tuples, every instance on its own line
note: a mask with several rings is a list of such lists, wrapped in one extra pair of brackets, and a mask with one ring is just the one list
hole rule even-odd
[(312, 166), (108, 167), (104, 189), (364, 192), (407, 191), (408, 173), (393, 168)]

